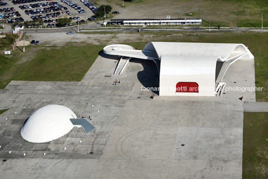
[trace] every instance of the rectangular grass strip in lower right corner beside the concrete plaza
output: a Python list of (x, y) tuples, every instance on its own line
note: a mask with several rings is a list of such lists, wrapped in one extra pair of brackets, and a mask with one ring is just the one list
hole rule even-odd
[(244, 112), (242, 178), (268, 178), (268, 112)]

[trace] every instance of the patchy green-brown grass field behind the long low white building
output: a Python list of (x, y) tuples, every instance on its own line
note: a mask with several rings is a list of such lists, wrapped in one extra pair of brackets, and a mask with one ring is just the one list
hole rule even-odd
[(114, 18), (135, 19), (135, 18), (200, 18), (203, 26), (220, 27), (261, 27), (261, 16), (263, 25), (268, 27), (268, 2), (267, 0), (137, 0), (124, 2), (121, 0), (95, 0), (98, 5), (108, 4), (112, 11), (119, 11), (120, 14)]

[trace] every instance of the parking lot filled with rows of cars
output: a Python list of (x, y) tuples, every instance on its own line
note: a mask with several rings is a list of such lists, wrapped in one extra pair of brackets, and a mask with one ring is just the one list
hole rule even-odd
[[(8, 23), (8, 20), (9, 23), (14, 23), (32, 21), (40, 18), (44, 21), (45, 27), (55, 27), (56, 20), (59, 18), (71, 18), (71, 23), (73, 24), (77, 21), (85, 23), (88, 18), (94, 15), (90, 9), (78, 0), (73, 0), (72, 3), (76, 4), (77, 7), (80, 7), (82, 13), (79, 13), (81, 11), (78, 11), (77, 8), (72, 8), (61, 1), (23, 0), (23, 4), (21, 2), (20, 4), (13, 4), (11, 1), (4, 1), (2, 3), (7, 3), (7, 6), (1, 6), (0, 9), (2, 9), (3, 21), (5, 20), (4, 23)], [(5, 10), (3, 10), (4, 8)], [(10, 10), (8, 10), (8, 8)], [(7, 15), (4, 19), (5, 14)], [(75, 17), (74, 20), (73, 17)], [(47, 26), (48, 24), (50, 26)], [(25, 28), (37, 28), (37, 26), (29, 26)]]

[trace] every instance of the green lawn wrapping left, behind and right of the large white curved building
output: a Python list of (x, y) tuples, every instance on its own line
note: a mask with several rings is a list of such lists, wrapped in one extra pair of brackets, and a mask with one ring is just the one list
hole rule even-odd
[[(87, 33), (87, 35), (101, 33)], [(36, 81), (80, 81), (98, 52), (106, 44), (123, 43), (141, 49), (149, 41), (164, 42), (204, 42), (204, 43), (242, 43), (249, 46), (255, 57), (255, 84), (263, 87), (263, 91), (256, 92), (257, 101), (268, 101), (268, 33), (219, 33), (219, 32), (142, 32), (142, 33), (110, 33), (114, 34), (101, 45), (86, 45), (70, 43), (64, 47), (42, 47), (32, 60), (17, 64), (19, 59), (27, 57), (32, 50), (22, 54), (15, 50), (12, 57), (0, 56), (0, 88), (4, 88), (11, 80)], [(121, 35), (127, 39), (122, 40)], [(131, 36), (135, 40), (131, 42)], [(131, 43), (130, 43), (131, 42)], [(33, 47), (31, 47), (33, 48)]]

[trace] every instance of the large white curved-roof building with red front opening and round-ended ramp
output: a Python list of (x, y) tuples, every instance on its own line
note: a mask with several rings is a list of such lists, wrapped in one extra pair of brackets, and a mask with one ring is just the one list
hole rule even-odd
[(243, 44), (149, 42), (143, 50), (109, 45), (103, 52), (121, 60), (129, 57), (122, 70), (131, 58), (152, 60), (159, 73), (160, 96), (221, 95), (228, 67), (238, 59), (254, 59)]

